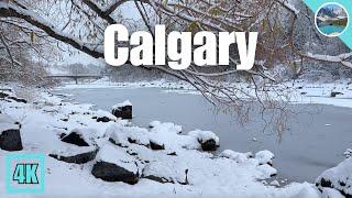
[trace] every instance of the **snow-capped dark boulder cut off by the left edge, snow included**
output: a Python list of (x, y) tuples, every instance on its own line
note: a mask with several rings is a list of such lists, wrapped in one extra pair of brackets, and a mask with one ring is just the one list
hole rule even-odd
[(7, 114), (0, 114), (0, 148), (6, 151), (23, 150), (20, 124)]

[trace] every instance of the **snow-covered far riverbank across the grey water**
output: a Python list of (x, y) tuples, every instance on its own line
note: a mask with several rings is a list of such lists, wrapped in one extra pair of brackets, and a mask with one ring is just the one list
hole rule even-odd
[[(254, 96), (254, 88), (249, 87), (248, 84), (239, 84), (241, 89), (252, 92)], [(76, 89), (76, 88), (163, 88), (165, 91), (173, 91), (179, 94), (200, 95), (195, 88), (185, 81), (140, 81), (140, 82), (111, 82), (103, 78), (91, 84), (73, 85), (66, 84), (61, 89)], [(332, 105), (338, 107), (352, 108), (352, 82), (348, 80), (338, 80), (336, 82), (309, 82), (307, 80), (295, 80), (279, 84), (272, 88), (273, 98), (275, 92), (280, 92), (279, 99), (286, 99), (292, 103), (321, 103)]]

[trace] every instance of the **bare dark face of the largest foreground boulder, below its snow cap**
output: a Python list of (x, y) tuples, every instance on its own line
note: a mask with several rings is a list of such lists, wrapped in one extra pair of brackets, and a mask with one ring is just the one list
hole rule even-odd
[(107, 162), (97, 162), (91, 169), (91, 174), (106, 182), (123, 182), (131, 185), (139, 182), (138, 173), (134, 174), (123, 167)]

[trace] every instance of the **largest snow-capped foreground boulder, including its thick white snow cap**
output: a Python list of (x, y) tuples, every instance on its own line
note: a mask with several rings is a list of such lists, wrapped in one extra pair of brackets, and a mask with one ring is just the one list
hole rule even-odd
[(139, 169), (135, 160), (125, 152), (105, 145), (96, 156), (97, 163), (91, 174), (106, 182), (123, 182), (134, 185), (139, 182)]

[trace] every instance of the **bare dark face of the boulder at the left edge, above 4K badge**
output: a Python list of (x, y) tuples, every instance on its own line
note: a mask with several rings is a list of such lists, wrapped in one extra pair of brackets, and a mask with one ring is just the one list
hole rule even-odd
[(0, 148), (6, 151), (23, 150), (19, 129), (10, 129), (0, 132)]

